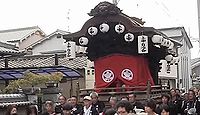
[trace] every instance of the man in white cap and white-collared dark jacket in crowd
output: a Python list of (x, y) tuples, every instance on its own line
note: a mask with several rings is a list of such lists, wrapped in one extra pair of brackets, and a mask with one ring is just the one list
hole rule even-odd
[(99, 115), (99, 112), (92, 106), (92, 98), (85, 96), (83, 98), (84, 107), (80, 115)]

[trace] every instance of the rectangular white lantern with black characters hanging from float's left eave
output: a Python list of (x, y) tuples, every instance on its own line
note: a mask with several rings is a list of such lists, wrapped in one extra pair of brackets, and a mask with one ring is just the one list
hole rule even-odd
[(66, 57), (68, 59), (75, 58), (76, 57), (76, 53), (75, 53), (75, 51), (76, 51), (76, 43), (73, 42), (73, 41), (68, 41), (68, 42), (66, 42), (66, 47), (67, 47), (67, 49), (66, 49)]

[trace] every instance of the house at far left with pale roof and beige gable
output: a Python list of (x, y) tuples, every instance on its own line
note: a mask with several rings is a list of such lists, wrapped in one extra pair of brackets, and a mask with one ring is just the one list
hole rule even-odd
[(45, 33), (38, 27), (26, 27), (0, 31), (0, 41), (16, 45), (20, 51), (26, 51), (27, 47), (43, 39)]

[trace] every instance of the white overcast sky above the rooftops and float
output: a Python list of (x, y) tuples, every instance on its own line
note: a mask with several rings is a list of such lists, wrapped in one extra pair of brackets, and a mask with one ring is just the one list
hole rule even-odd
[[(46, 34), (56, 29), (79, 31), (90, 18), (87, 13), (101, 1), (105, 0), (1, 0), (0, 30), (39, 26)], [(142, 18), (145, 26), (184, 26), (190, 37), (198, 38), (197, 0), (120, 0), (118, 7)], [(193, 42), (195, 48), (197, 44)], [(193, 48), (192, 58), (198, 52)]]

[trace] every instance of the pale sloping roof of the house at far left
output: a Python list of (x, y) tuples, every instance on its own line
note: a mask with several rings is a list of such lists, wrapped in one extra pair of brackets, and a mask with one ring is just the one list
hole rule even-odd
[[(8, 42), (8, 41), (18, 41), (26, 38), (32, 33), (42, 30), (38, 26), (26, 27), (26, 28), (18, 28), (18, 29), (9, 29), (0, 31), (0, 41)], [(44, 32), (42, 32), (44, 34)]]

